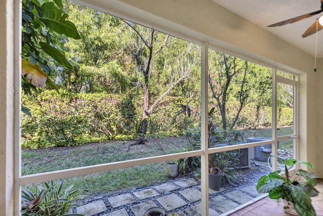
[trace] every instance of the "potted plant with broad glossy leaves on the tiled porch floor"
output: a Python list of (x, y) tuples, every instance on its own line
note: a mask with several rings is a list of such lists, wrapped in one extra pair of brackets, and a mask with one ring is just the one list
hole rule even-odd
[[(317, 175), (298, 169), (291, 176), (289, 169), (296, 163), (305, 164), (311, 168), (310, 162), (299, 161), (294, 158), (280, 159), (285, 166), (285, 175), (279, 175), (281, 170), (270, 172), (270, 174), (262, 176), (257, 184), (259, 193), (269, 193), (271, 199), (283, 199), (286, 205), (284, 209), (288, 213), (293, 213), (293, 209), (299, 215), (316, 215), (315, 209), (311, 203), (311, 191), (315, 189), (315, 180), (319, 178)], [(293, 177), (296, 177), (295, 179)], [(300, 181), (303, 177), (305, 181)], [(295, 214), (295, 213), (294, 213)]]

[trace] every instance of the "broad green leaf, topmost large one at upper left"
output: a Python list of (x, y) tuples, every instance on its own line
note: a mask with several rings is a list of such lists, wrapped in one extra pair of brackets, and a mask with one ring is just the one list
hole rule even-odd
[(68, 15), (64, 14), (63, 11), (56, 7), (53, 2), (44, 3), (41, 6), (41, 9), (43, 11), (41, 19), (53, 31), (60, 34), (65, 34), (66, 36), (74, 39), (81, 38), (75, 25), (71, 21), (66, 20)]

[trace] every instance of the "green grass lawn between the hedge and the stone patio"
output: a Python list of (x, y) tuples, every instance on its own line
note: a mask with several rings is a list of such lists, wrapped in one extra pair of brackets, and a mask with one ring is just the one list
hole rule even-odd
[[(280, 133), (292, 134), (292, 130), (286, 127), (280, 129)], [(271, 137), (271, 129), (248, 130), (245, 137)], [(161, 146), (154, 139), (145, 145), (131, 145), (132, 143), (134, 141), (112, 141), (83, 146), (22, 149), (22, 175), (161, 155), (163, 151), (160, 147), (166, 154), (187, 149), (187, 142), (183, 137), (163, 139), (160, 141)], [(65, 184), (74, 185), (74, 189), (80, 189), (84, 195), (94, 195), (153, 185), (167, 179), (166, 162), (159, 162), (68, 178), (65, 179)], [(37, 185), (24, 187), (35, 190)]]

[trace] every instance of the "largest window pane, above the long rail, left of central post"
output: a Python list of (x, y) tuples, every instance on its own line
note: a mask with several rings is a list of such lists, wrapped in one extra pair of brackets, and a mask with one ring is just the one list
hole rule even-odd
[(200, 46), (68, 10), (82, 35), (64, 44), (74, 69), (52, 75), (59, 93), (22, 97), (23, 175), (200, 149)]

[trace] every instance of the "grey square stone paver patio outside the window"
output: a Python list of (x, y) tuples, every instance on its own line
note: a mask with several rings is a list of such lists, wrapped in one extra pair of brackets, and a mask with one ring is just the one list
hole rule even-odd
[[(191, 178), (180, 178), (119, 195), (101, 195), (74, 208), (73, 212), (85, 216), (143, 216), (148, 208), (158, 206), (168, 212), (178, 212), (180, 216), (199, 216), (200, 190), (198, 182)], [(219, 191), (209, 190), (209, 215), (229, 211), (258, 195), (255, 185), (222, 186)]]

